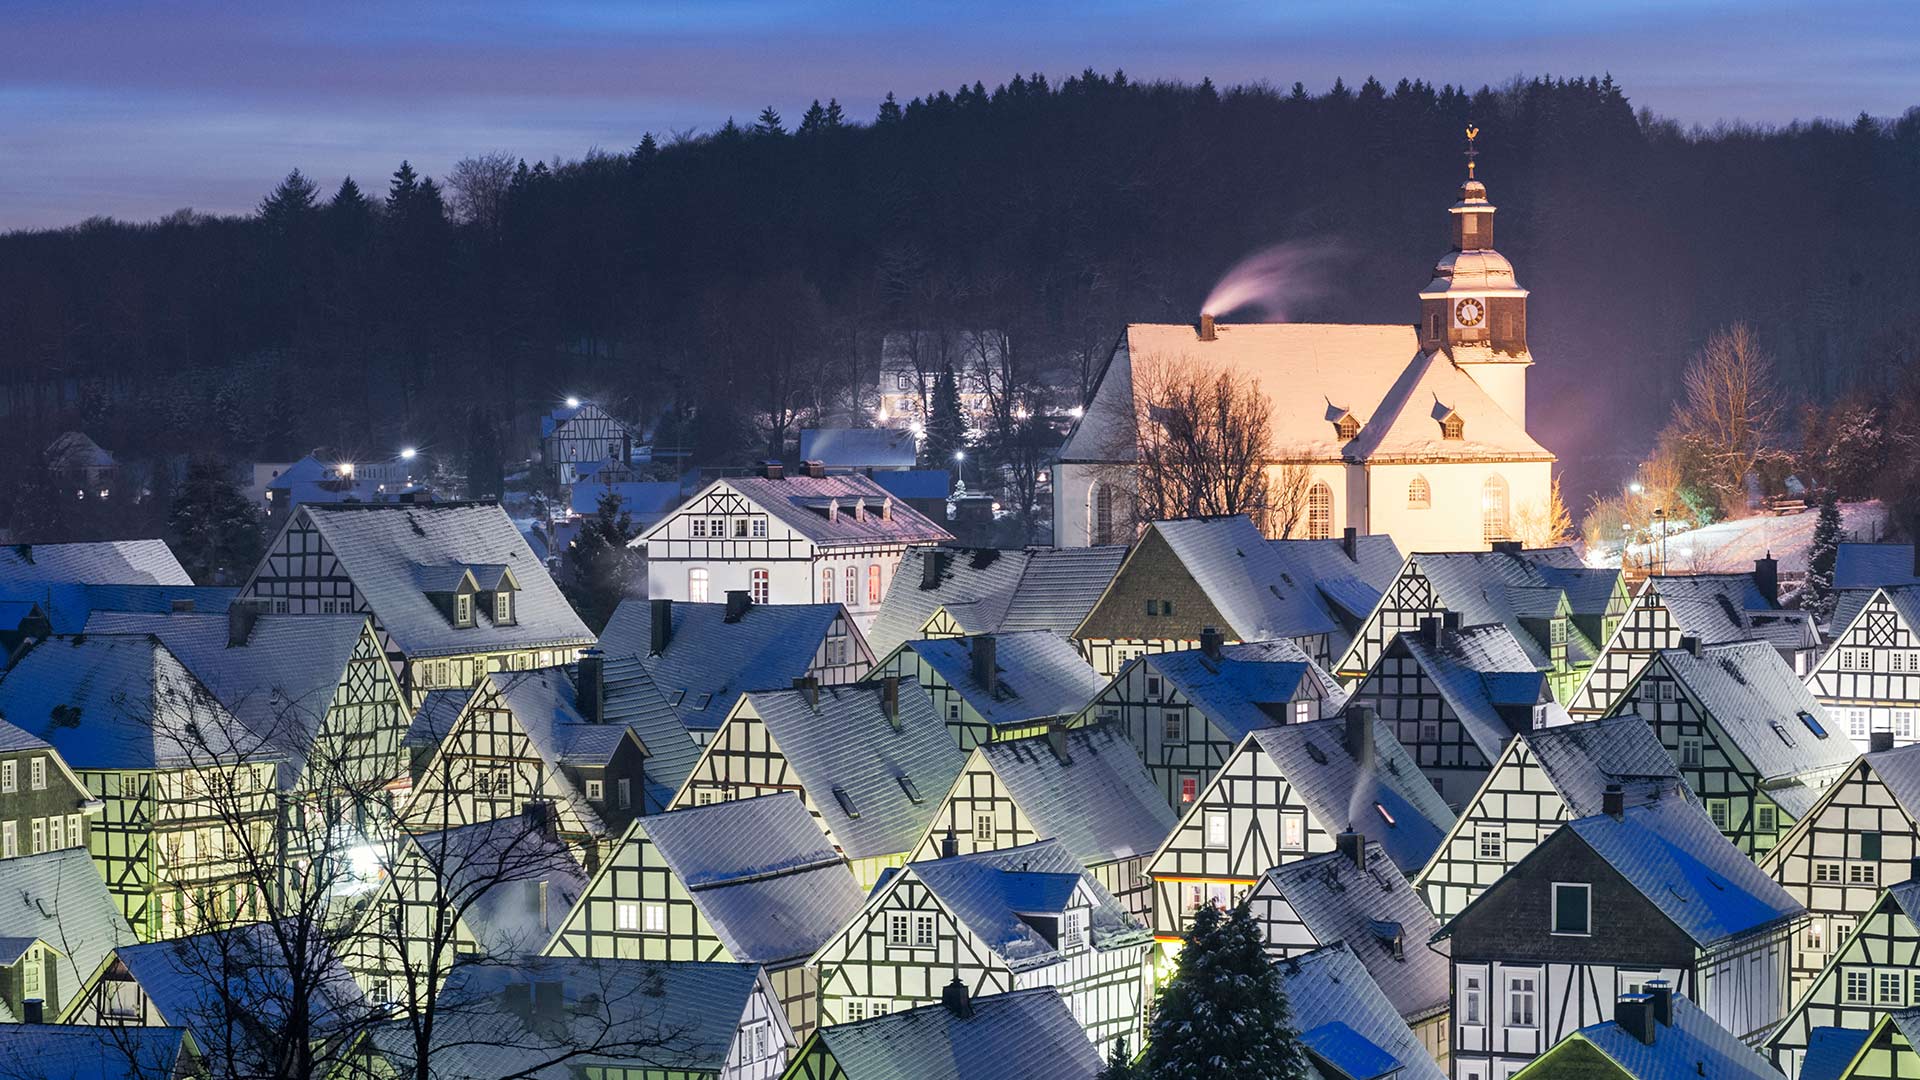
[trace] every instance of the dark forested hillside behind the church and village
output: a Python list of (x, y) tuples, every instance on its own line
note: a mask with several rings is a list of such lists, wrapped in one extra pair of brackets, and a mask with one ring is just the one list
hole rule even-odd
[(1327, 256), (1290, 317), (1413, 321), (1469, 121), (1534, 296), (1532, 427), (1571, 490), (1645, 452), (1726, 323), (1809, 402), (1914, 369), (1920, 111), (1682, 133), (1611, 79), (1315, 96), (1085, 73), (0, 236), (0, 438), (524, 452), (538, 411), (589, 392), (691, 409), (710, 455), (755, 455), (858, 404), (889, 329), (939, 327), (1004, 331), (1062, 404), (1123, 323), (1192, 319), (1277, 242)]

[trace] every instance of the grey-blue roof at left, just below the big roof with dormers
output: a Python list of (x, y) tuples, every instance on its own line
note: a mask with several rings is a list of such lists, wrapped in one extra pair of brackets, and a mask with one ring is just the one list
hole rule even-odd
[(365, 630), (365, 615), (261, 613), (246, 644), (228, 646), (225, 611), (98, 611), (86, 621), (88, 634), (154, 634), (165, 642), (227, 711), (286, 759), (282, 788), (300, 778)]

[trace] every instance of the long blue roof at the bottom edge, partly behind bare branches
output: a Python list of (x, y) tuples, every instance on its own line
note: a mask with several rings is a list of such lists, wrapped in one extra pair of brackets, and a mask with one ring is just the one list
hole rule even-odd
[[(530, 999), (541, 984), (559, 986), (559, 1022), (530, 1022), (507, 1001), (509, 986)], [(440, 992), (432, 1065), (440, 1074), (534, 1080), (574, 1080), (620, 1065), (718, 1076), (747, 1001), (762, 988), (772, 997), (760, 967), (745, 963), (578, 957), (457, 963)], [(405, 1020), (374, 1028), (372, 1038), (401, 1074), (411, 1068), (415, 1043)]]

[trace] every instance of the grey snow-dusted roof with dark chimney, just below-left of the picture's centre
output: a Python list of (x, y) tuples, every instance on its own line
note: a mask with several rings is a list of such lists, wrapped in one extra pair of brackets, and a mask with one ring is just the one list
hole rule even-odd
[(887, 719), (881, 686), (822, 686), (818, 694), (810, 703), (803, 690), (755, 690), (739, 707), (766, 724), (849, 859), (910, 849), (966, 765), (966, 751), (912, 678), (900, 680), (899, 728)]

